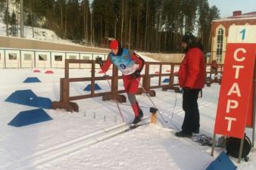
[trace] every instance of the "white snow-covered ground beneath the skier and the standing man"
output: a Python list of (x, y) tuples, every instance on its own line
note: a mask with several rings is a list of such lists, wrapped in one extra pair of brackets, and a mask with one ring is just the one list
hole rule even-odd
[[(31, 170), (204, 170), (214, 160), (210, 155), (211, 147), (202, 147), (191, 139), (176, 138), (173, 133), (183, 122), (182, 94), (173, 91), (155, 89), (157, 95), (152, 100), (161, 111), (164, 127), (144, 125), (133, 131), (105, 138), (104, 129), (122, 125), (116, 104), (102, 101), (101, 97), (76, 100), (79, 113), (67, 113), (64, 110), (45, 110), (51, 121), (15, 128), (7, 125), (17, 113), (33, 110), (19, 104), (5, 102), (14, 91), (31, 89), (40, 97), (59, 100), (59, 79), (64, 70), (53, 70), (48, 75), (33, 73), (33, 70), (0, 70), (0, 169)], [(110, 72), (111, 73), (111, 72)], [(89, 70), (71, 70), (70, 77), (89, 76)], [(27, 77), (38, 77), (41, 83), (23, 83)], [(96, 76), (102, 76), (96, 74)], [(158, 82), (152, 78), (152, 82)], [(98, 85), (108, 91), (106, 81)], [(83, 88), (89, 82), (72, 83), (71, 95), (86, 94)], [(122, 82), (120, 81), (120, 88)], [(220, 85), (205, 87), (203, 97), (198, 99), (201, 113), (201, 134), (212, 136), (217, 109)], [(145, 116), (149, 116), (150, 100), (145, 94), (137, 99)], [(176, 102), (175, 102), (176, 100)], [(176, 107), (174, 107), (176, 103)], [(125, 122), (132, 122), (133, 110), (129, 103), (120, 104)], [(95, 115), (95, 117), (94, 117)], [(173, 115), (173, 119), (171, 119)], [(249, 133), (251, 130), (248, 130)], [(111, 132), (112, 133), (112, 132)], [(114, 131), (113, 131), (114, 133)], [(101, 141), (101, 139), (105, 139)], [(215, 156), (223, 149), (217, 148)], [(249, 154), (250, 161), (237, 163), (241, 170), (256, 168), (256, 153)]]

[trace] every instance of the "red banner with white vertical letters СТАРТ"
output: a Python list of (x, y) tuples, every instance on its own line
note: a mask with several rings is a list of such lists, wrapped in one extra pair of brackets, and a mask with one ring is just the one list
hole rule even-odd
[[(214, 133), (243, 138), (252, 127), (256, 44), (227, 45)], [(247, 123), (246, 123), (247, 122)]]

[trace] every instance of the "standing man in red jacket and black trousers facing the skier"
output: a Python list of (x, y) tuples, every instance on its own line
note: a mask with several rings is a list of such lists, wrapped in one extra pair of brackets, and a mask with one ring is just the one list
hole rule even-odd
[(198, 93), (204, 88), (205, 62), (201, 43), (192, 34), (183, 36), (182, 48), (185, 56), (180, 65), (179, 84), (183, 88), (183, 110), (185, 117), (182, 131), (176, 132), (177, 137), (191, 138), (192, 133), (199, 133), (200, 116), (198, 110)]

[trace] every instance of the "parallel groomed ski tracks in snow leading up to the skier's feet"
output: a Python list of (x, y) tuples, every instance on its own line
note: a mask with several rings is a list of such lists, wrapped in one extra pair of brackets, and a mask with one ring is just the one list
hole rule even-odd
[[(149, 117), (144, 116), (142, 119), (142, 125), (146, 125), (149, 123)], [(20, 159), (15, 165), (8, 164), (0, 166), (0, 169), (6, 170), (24, 170), (35, 168), (36, 166), (43, 165), (47, 162), (52, 162), (56, 159), (60, 159), (62, 156), (66, 156), (67, 154), (73, 154), (77, 151), (83, 150), (86, 147), (89, 147), (93, 144), (97, 144), (101, 141), (108, 140), (109, 138), (114, 138), (118, 134), (123, 134), (124, 132), (131, 131), (135, 128), (130, 128), (131, 123), (120, 123), (118, 125), (111, 126), (110, 128), (104, 128), (90, 134), (84, 135), (80, 138), (76, 138), (62, 144), (58, 144), (52, 147), (49, 147), (45, 150), (39, 150), (33, 155), (24, 157)], [(139, 126), (142, 126), (139, 125)], [(138, 126), (138, 127), (139, 127)], [(33, 160), (33, 162), (30, 162)], [(27, 164), (27, 162), (30, 162)]]

